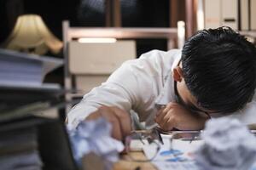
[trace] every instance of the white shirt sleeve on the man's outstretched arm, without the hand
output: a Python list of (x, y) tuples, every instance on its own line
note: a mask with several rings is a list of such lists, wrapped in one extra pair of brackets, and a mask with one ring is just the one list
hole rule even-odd
[(138, 84), (143, 82), (139, 78), (140, 71), (136, 71), (132, 65), (137, 65), (137, 59), (126, 61), (107, 82), (85, 94), (81, 102), (68, 113), (68, 124), (76, 127), (102, 105), (117, 106), (127, 112), (138, 105), (141, 96), (141, 86)]

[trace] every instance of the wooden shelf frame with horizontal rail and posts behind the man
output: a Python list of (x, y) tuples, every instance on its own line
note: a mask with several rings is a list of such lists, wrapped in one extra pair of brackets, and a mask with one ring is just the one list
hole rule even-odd
[[(177, 25), (178, 26), (178, 25)], [(73, 27), (69, 25), (67, 20), (62, 23), (62, 33), (64, 42), (64, 60), (65, 60), (65, 88), (73, 89), (73, 75), (68, 68), (68, 42), (81, 37), (113, 37), (118, 39), (139, 39), (139, 38), (165, 38), (167, 40), (167, 48), (182, 47), (184, 42), (184, 26), (175, 28), (127, 28), (127, 27)], [(178, 34), (179, 30), (179, 34)], [(79, 98), (83, 94), (66, 94), (66, 99)], [(66, 111), (69, 111), (70, 105), (67, 105)]]

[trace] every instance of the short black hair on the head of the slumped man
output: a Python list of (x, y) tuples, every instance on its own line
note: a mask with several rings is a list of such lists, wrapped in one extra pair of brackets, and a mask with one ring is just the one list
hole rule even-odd
[(241, 109), (256, 88), (256, 49), (230, 27), (198, 31), (184, 43), (183, 77), (201, 107), (223, 114)]

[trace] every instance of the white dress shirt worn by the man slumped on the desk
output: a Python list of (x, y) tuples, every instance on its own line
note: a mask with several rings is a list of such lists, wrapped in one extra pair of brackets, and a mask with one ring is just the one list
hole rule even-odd
[[(152, 50), (139, 59), (125, 61), (101, 86), (85, 94), (81, 102), (68, 113), (68, 124), (79, 122), (102, 105), (118, 106), (129, 113), (136, 111), (146, 127), (154, 125), (158, 105), (175, 101), (172, 70), (181, 58), (179, 49), (168, 52)], [(245, 124), (256, 123), (256, 101), (247, 104), (231, 117)]]

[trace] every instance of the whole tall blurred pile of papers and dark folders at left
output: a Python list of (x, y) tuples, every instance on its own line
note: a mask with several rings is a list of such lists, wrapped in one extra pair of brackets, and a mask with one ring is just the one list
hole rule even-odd
[(59, 109), (65, 91), (44, 83), (62, 59), (0, 49), (1, 169), (76, 169)]

